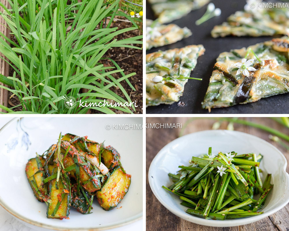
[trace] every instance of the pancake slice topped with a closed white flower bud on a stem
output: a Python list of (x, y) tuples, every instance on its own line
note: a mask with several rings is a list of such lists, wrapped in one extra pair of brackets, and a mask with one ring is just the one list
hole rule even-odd
[[(197, 58), (205, 52), (203, 45), (190, 45), (167, 51), (158, 51), (146, 55), (146, 106), (161, 103), (173, 104), (179, 101), (184, 85), (197, 64)], [(152, 79), (162, 76), (166, 80), (154, 82)]]

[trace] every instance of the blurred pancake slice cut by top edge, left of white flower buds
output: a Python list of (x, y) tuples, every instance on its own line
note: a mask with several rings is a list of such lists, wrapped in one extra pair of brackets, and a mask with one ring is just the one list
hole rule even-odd
[(159, 23), (170, 23), (192, 10), (197, 10), (210, 0), (149, 0)]

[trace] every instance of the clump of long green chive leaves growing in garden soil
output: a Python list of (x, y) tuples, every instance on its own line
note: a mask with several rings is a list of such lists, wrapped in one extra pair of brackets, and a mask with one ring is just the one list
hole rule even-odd
[[(4, 9), (4, 18), (14, 39), (0, 35), (0, 52), (13, 68), (12, 76), (0, 76), (0, 81), (10, 88), (0, 86), (19, 100), (23, 111), (0, 105), (8, 113), (86, 113), (96, 109), (103, 113), (114, 113), (111, 106), (66, 108), (62, 98), (73, 97), (77, 105), (80, 100), (103, 103), (130, 103), (131, 99), (122, 82), (129, 82), (118, 64), (108, 58), (113, 67), (105, 67), (101, 59), (114, 47), (141, 49), (133, 44), (142, 44), (142, 36), (123, 40), (115, 36), (138, 29), (136, 23), (119, 11), (119, 0), (112, 4), (104, 0), (8, 0), (11, 9)], [(128, 28), (112, 27), (114, 18), (125, 17), (131, 23)], [(109, 20), (108, 20), (109, 19)], [(108, 23), (107, 23), (108, 22)], [(9, 43), (10, 44), (9, 44)], [(112, 69), (113, 68), (113, 69)], [(112, 69), (108, 71), (107, 69)], [(119, 73), (121, 78), (114, 78)], [(125, 98), (114, 92), (118, 87)], [(82, 92), (81, 89), (88, 89)], [(16, 105), (18, 107), (20, 105)], [(124, 113), (133, 113), (134, 105), (114, 107)]]

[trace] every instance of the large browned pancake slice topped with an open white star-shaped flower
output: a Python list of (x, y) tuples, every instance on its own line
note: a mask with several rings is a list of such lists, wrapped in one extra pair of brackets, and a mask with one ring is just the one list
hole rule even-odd
[[(237, 75), (237, 62), (241, 62), (249, 49), (247, 60), (254, 59), (253, 68), (246, 77)], [(217, 58), (202, 107), (204, 109), (229, 107), (251, 103), (261, 98), (289, 92), (289, 38), (274, 38), (264, 43), (223, 52)], [(264, 61), (264, 62), (263, 62)], [(262, 65), (264, 63), (264, 65)]]

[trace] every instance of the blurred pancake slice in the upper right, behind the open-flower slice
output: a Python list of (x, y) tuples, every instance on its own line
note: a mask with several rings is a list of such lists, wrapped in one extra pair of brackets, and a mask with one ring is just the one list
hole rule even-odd
[(227, 18), (227, 22), (214, 26), (214, 38), (233, 36), (273, 36), (289, 35), (289, 8), (265, 8), (260, 13), (237, 11)]

